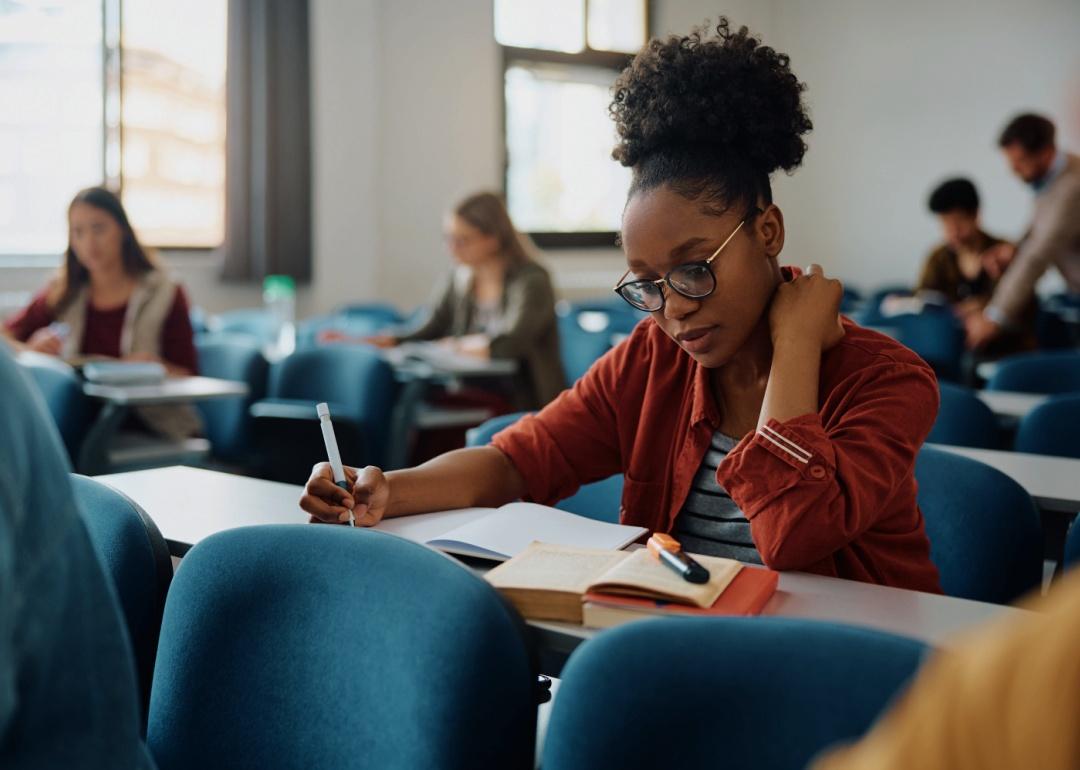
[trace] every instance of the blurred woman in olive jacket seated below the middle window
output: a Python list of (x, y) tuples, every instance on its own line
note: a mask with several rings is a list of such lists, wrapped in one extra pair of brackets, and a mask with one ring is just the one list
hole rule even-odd
[(440, 286), (427, 320), (400, 336), (368, 341), (392, 347), (445, 340), (462, 353), (514, 359), (519, 368), (507, 395), (516, 409), (536, 409), (566, 384), (558, 353), (555, 292), (548, 271), (529, 256), (502, 200), (470, 195), (446, 221), (457, 269)]

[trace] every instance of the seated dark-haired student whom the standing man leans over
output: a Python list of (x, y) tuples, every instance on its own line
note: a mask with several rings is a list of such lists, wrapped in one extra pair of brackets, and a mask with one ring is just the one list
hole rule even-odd
[[(982, 229), (978, 191), (970, 179), (947, 179), (930, 193), (944, 242), (927, 257), (917, 292), (924, 299), (948, 302), (960, 319), (981, 313), (1008, 268), (1011, 245)], [(987, 350), (1002, 355), (1035, 347), (1035, 294), (1028, 297), (1017, 328)]]

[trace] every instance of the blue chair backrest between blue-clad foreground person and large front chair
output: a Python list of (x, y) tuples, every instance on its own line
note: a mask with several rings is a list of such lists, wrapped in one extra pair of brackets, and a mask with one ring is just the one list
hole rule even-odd
[(120, 599), (146, 715), (165, 596), (173, 579), (168, 545), (135, 502), (112, 487), (71, 474), (76, 502)]

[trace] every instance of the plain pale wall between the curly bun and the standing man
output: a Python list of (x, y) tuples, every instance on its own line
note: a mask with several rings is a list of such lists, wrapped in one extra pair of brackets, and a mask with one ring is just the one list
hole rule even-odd
[(996, 147), (1009, 117), (1048, 113), (1080, 149), (1066, 124), (1076, 0), (782, 0), (773, 14), (769, 42), (809, 85), (814, 122), (804, 167), (774, 187), (791, 262), (864, 287), (912, 281), (937, 238), (926, 198), (946, 176), (974, 179), (991, 232), (1022, 234), (1030, 193)]

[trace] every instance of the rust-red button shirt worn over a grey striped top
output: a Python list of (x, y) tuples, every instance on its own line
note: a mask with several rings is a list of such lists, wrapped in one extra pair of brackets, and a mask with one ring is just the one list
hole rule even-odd
[[(743, 437), (717, 481), (773, 569), (940, 593), (915, 456), (937, 382), (899, 342), (845, 321), (822, 356), (819, 410)], [(669, 532), (720, 424), (710, 370), (646, 319), (570, 390), (492, 443), (551, 504), (624, 474), (620, 518)]]

